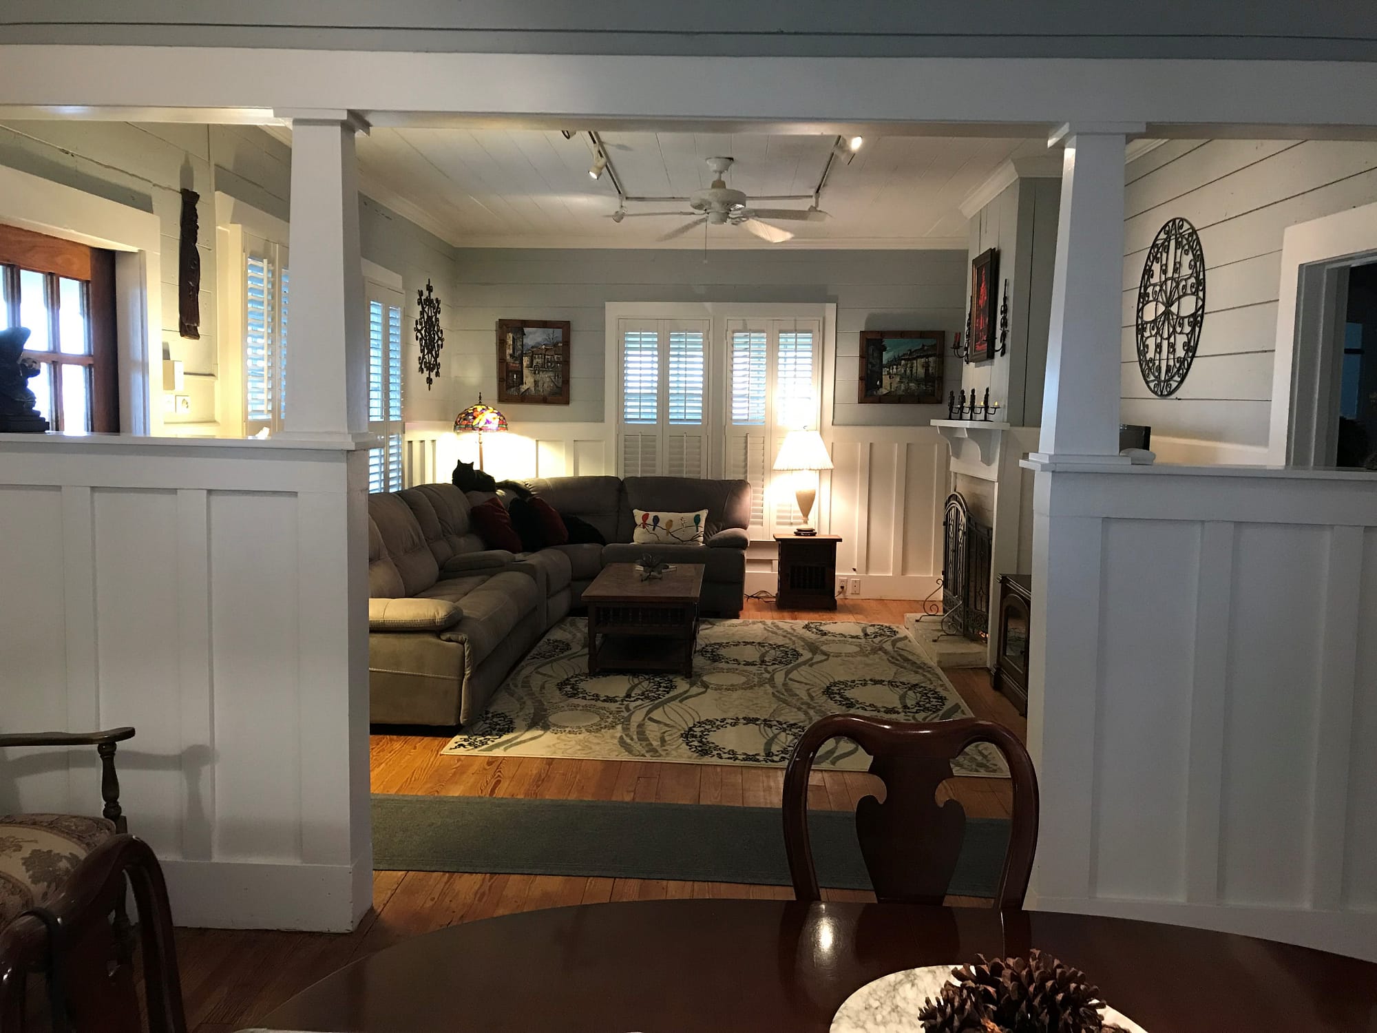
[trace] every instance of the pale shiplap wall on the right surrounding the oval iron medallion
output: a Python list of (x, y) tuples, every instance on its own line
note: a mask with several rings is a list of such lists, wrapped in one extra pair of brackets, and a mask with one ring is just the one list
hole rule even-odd
[[(1124, 225), (1122, 417), (1153, 427), (1177, 461), (1265, 461), (1282, 231), (1377, 201), (1377, 143), (1169, 140), (1128, 167)], [(1181, 390), (1154, 398), (1137, 368), (1143, 260), (1168, 219), (1205, 249), (1205, 324)]]

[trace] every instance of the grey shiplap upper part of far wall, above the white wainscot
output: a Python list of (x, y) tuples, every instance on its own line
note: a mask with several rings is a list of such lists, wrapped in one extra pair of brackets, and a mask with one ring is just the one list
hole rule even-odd
[[(918, 426), (945, 406), (858, 405), (859, 332), (964, 325), (965, 253), (960, 251), (558, 251), (460, 249), (446, 340), (449, 409), (431, 415), (414, 394), (408, 419), (453, 420), (482, 391), (496, 398), (500, 318), (569, 320), (570, 405), (508, 405), (522, 423), (602, 423), (607, 302), (834, 302), (839, 426)], [(949, 384), (961, 371), (947, 369)], [(413, 404), (414, 402), (414, 404)]]

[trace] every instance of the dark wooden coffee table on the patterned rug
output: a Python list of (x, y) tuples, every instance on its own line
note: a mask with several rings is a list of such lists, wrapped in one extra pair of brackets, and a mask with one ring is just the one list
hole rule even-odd
[(588, 674), (662, 671), (693, 675), (702, 563), (676, 563), (643, 581), (635, 563), (609, 563), (584, 589)]

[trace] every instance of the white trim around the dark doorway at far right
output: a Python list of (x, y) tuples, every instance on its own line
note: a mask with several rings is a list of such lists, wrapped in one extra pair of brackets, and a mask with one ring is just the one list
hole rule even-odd
[(1311, 466), (1321, 383), (1321, 340), (1305, 331), (1326, 318), (1330, 270), (1377, 251), (1377, 202), (1287, 226), (1282, 234), (1282, 273), (1276, 304), (1276, 357), (1272, 364), (1271, 432), (1267, 461)]

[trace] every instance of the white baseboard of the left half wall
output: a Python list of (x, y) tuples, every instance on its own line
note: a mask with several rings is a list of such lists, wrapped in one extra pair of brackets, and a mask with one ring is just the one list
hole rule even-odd
[(372, 905), (368, 858), (354, 865), (161, 861), (176, 926), (350, 932)]

